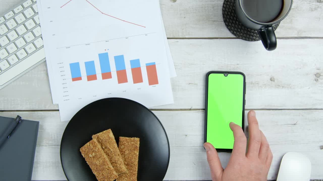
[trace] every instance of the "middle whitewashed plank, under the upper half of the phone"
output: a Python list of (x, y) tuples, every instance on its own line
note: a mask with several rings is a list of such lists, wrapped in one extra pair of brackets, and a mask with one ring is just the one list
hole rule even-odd
[[(242, 71), (246, 109), (322, 109), (323, 39), (278, 40), (268, 52), (260, 42), (169, 40), (177, 77), (174, 104), (156, 109), (203, 109), (208, 71)], [(0, 110), (57, 110), (45, 63), (0, 90)]]

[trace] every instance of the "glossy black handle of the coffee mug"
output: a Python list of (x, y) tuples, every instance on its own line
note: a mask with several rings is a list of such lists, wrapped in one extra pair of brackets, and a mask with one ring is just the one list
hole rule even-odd
[(257, 30), (258, 35), (268, 51), (273, 51), (277, 47), (277, 40), (274, 28), (272, 26)]

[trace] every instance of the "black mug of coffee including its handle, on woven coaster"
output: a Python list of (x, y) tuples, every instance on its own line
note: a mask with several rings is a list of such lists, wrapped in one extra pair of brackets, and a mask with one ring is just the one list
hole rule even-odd
[(292, 8), (293, 0), (235, 0), (235, 12), (243, 25), (257, 30), (266, 50), (277, 47), (273, 26), (281, 22)]

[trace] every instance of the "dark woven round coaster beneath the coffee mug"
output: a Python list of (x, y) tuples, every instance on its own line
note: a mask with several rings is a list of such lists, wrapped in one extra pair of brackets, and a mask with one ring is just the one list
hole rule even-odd
[[(257, 30), (245, 27), (239, 22), (235, 15), (235, 0), (224, 0), (222, 7), (222, 16), (225, 26), (237, 38), (242, 40), (255, 42), (259, 41)], [(274, 30), (279, 26), (279, 23), (274, 25)]]

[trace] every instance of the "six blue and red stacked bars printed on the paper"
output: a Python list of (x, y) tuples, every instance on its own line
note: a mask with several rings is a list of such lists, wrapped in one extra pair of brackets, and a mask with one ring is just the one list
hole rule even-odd
[[(111, 64), (109, 61), (109, 53), (99, 53), (99, 65), (100, 69), (96, 69), (95, 61), (84, 62), (85, 72), (87, 81), (98, 80), (97, 75), (101, 74), (102, 80), (112, 79), (112, 72), (116, 72), (118, 84), (128, 83), (127, 68), (124, 55), (113, 56), (115, 63), (115, 71), (111, 70)], [(128, 61), (128, 60), (127, 60)], [(148, 85), (159, 84), (156, 62), (144, 63), (145, 66), (141, 66), (140, 59), (129, 60), (131, 77), (133, 84), (143, 83), (143, 71), (142, 67), (146, 67)], [(129, 65), (129, 64), (128, 64)], [(72, 82), (81, 81), (82, 73), (79, 62), (74, 62), (69, 64)], [(96, 70), (100, 70), (101, 73), (97, 73)], [(129, 71), (129, 70), (128, 70)], [(114, 74), (115, 75), (115, 74)]]

